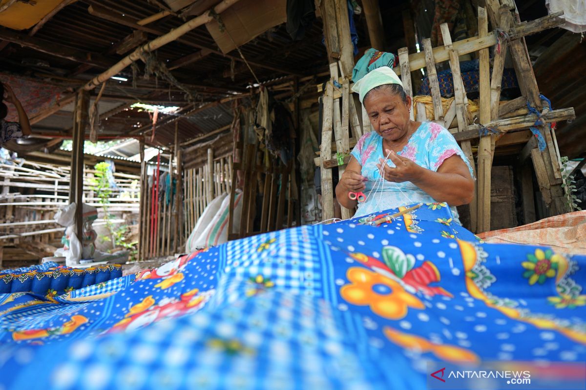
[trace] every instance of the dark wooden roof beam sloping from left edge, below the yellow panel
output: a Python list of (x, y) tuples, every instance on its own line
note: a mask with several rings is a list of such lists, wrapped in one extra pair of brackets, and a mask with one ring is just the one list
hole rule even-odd
[(89, 64), (99, 68), (109, 68), (115, 64), (111, 58), (107, 58), (97, 53), (83, 53), (77, 49), (62, 44), (49, 42), (47, 40), (30, 37), (26, 34), (13, 32), (9, 29), (0, 29), (0, 39), (16, 43), (30, 49), (41, 51), (60, 58), (66, 58), (70, 61)]

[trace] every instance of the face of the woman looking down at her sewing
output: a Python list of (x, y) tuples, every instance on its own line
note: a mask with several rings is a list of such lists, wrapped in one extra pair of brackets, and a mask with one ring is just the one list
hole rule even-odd
[(390, 89), (371, 91), (364, 99), (370, 124), (387, 141), (398, 141), (408, 133), (410, 107), (410, 96), (404, 102), (400, 95)]

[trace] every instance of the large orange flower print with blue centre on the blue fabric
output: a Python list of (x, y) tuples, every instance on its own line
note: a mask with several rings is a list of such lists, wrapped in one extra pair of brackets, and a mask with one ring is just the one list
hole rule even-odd
[(340, 288), (340, 295), (352, 305), (366, 306), (383, 318), (398, 320), (407, 315), (407, 308), (423, 310), (425, 306), (409, 294), (393, 279), (366, 270), (352, 267), (346, 277), (350, 284)]

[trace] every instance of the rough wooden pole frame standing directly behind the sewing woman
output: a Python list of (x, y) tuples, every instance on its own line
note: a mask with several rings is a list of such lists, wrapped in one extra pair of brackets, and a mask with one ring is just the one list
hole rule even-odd
[[(478, 31), (479, 35), (459, 42), (452, 42), (447, 24), (441, 25), (441, 32), (444, 39), (443, 47), (431, 47), (429, 39), (423, 40), (424, 51), (422, 53), (408, 53), (408, 48), (404, 47), (398, 50), (400, 65), (394, 71), (401, 76), (406, 93), (413, 97), (411, 88), (411, 72), (427, 68), (426, 74), (430, 80), (431, 97), (434, 106), (433, 118), (426, 118), (425, 109), (419, 110), (418, 120), (432, 120), (447, 127), (455, 139), (461, 144), (462, 150), (475, 166), (476, 195), (471, 203), (471, 227), (475, 232), (485, 232), (490, 230), (490, 171), (492, 160), (495, 153), (495, 147), (498, 146), (499, 140), (505, 140), (503, 137), (512, 136), (514, 132), (525, 130), (533, 126), (538, 118), (537, 115), (531, 114), (527, 110), (527, 102), (541, 112), (539, 131), (546, 140), (546, 149), (539, 151), (535, 137), (530, 137), (524, 147), (520, 161), (531, 157), (537, 182), (550, 210), (551, 215), (557, 215), (567, 212), (567, 205), (564, 201), (564, 191), (561, 187), (562, 178), (560, 174), (560, 156), (555, 144), (554, 130), (550, 129), (548, 123), (557, 120), (574, 119), (573, 109), (561, 109), (550, 111), (546, 102), (541, 101), (539, 89), (533, 68), (527, 53), (527, 46), (524, 42), (524, 36), (540, 32), (541, 30), (560, 25), (563, 19), (560, 19), (561, 13), (546, 16), (532, 22), (519, 22), (518, 14), (514, 2), (510, 0), (487, 0), (488, 9), (479, 8), (478, 10)], [(331, 169), (339, 165), (340, 175), (343, 172), (343, 165), (347, 164), (349, 157), (349, 147), (352, 147), (362, 129), (359, 124), (356, 109), (353, 109), (354, 101), (352, 95), (348, 95), (348, 86), (353, 67), (353, 58), (351, 56), (352, 44), (350, 43), (349, 28), (343, 23), (347, 18), (340, 18), (343, 15), (343, 2), (339, 0), (322, 0), (321, 12), (324, 23), (324, 33), (326, 36), (326, 46), (331, 60), (331, 79), (326, 84), (325, 91), (318, 86), (319, 91), (323, 91), (323, 129), (322, 144), (320, 156), (316, 158), (316, 165), (321, 166), (322, 178), (322, 204), (323, 220), (333, 218), (333, 188)], [(342, 12), (340, 12), (342, 9)], [(334, 16), (336, 18), (334, 18)], [(499, 36), (499, 30), (488, 32), (488, 19), (495, 29), (504, 32)], [(368, 21), (369, 19), (367, 19)], [(376, 18), (374, 18), (376, 20)], [(334, 23), (334, 21), (336, 23)], [(370, 27), (369, 27), (370, 30)], [(503, 39), (503, 36), (507, 37)], [(500, 50), (496, 51), (494, 64), (492, 68), (492, 81), (490, 77), (490, 64), (488, 48), (500, 45)], [(500, 102), (500, 81), (505, 66), (505, 57), (507, 49), (515, 64), (517, 78), (519, 80), (522, 96), (513, 101)], [(478, 51), (480, 62), (480, 112), (478, 122), (473, 122), (468, 115), (468, 99), (459, 68), (459, 56)], [(454, 80), (455, 99), (447, 112), (443, 112), (440, 88), (438, 85), (437, 71), (435, 64), (442, 61), (449, 61)], [(340, 67), (342, 71), (339, 77), (336, 69)], [(336, 87), (342, 85), (342, 88)], [(342, 112), (349, 113), (350, 123), (352, 126), (352, 136), (354, 142), (348, 143), (349, 133), (347, 132), (347, 117), (342, 114), (342, 123), (339, 124), (340, 115), (338, 108), (342, 103)], [(349, 111), (347, 106), (350, 106)], [(413, 113), (413, 110), (411, 111)], [(456, 119), (456, 127), (452, 127), (452, 121)], [(367, 131), (366, 116), (362, 116), (364, 132)], [(333, 123), (333, 125), (332, 125)], [(332, 127), (335, 130), (336, 143), (332, 141)], [(346, 131), (344, 130), (346, 129)], [(486, 132), (487, 129), (496, 130)], [(511, 134), (507, 134), (511, 133)], [(472, 154), (471, 140), (479, 139), (477, 161)], [(332, 148), (336, 153), (342, 153), (346, 156), (343, 164), (338, 163), (338, 159), (332, 158)], [(341, 162), (341, 161), (340, 161)], [(530, 174), (529, 168), (523, 168), (525, 175)], [(523, 180), (523, 189), (526, 204), (524, 204), (524, 213), (526, 223), (533, 222), (534, 208), (532, 196), (532, 184), (529, 179)], [(531, 187), (531, 188), (530, 188)], [(352, 210), (342, 210), (342, 218), (348, 218)]]

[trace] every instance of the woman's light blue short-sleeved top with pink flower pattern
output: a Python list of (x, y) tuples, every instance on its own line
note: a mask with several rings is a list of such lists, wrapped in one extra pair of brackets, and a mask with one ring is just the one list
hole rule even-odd
[[(363, 216), (380, 209), (388, 209), (415, 202), (434, 202), (434, 199), (410, 181), (394, 183), (383, 181), (379, 173), (379, 159), (387, 158), (383, 152), (383, 137), (376, 132), (364, 134), (352, 150), (352, 156), (360, 164), (361, 174), (367, 178), (364, 183), (366, 201), (358, 203), (356, 216)], [(444, 161), (454, 155), (460, 156), (468, 165), (472, 176), (472, 166), (462, 149), (451, 133), (434, 122), (423, 122), (408, 140), (407, 144), (398, 152), (400, 156), (408, 158), (415, 164), (436, 172)], [(387, 160), (389, 167), (394, 167), (393, 161)], [(452, 208), (457, 220), (456, 208)]]

